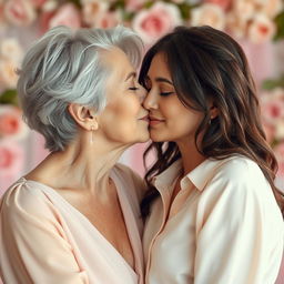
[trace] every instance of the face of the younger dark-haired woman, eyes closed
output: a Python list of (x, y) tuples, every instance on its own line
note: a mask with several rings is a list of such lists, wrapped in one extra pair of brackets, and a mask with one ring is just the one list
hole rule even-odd
[(149, 93), (143, 105), (149, 110), (150, 138), (154, 142), (193, 142), (204, 114), (182, 104), (163, 53), (153, 58), (145, 82)]

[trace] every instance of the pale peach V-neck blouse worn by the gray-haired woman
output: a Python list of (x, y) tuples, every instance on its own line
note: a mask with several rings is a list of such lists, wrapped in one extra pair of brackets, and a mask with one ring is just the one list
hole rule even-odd
[[(116, 165), (111, 175), (134, 253), (134, 270), (53, 189), (21, 178), (0, 203), (0, 275), (9, 284), (142, 284), (142, 181)], [(114, 230), (116, 230), (114, 227)]]

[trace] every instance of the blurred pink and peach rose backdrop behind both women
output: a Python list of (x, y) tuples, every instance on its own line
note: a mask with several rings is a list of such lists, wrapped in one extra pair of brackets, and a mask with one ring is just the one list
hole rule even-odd
[[(179, 24), (209, 24), (240, 41), (255, 71), (263, 123), (280, 162), (278, 184), (284, 187), (284, 70), (281, 68), (284, 65), (284, 57), (283, 53), (275, 52), (281, 48), (283, 48), (282, 0), (0, 0), (2, 192), (47, 154), (42, 138), (28, 130), (22, 122), (16, 99), (18, 78), (14, 70), (20, 65), (29, 44), (48, 29), (59, 24), (77, 29), (110, 28), (119, 23), (136, 31), (146, 47)], [(141, 149), (136, 148), (135, 151), (141, 152)], [(138, 165), (135, 158), (132, 152), (126, 160), (142, 171), (142, 165)]]

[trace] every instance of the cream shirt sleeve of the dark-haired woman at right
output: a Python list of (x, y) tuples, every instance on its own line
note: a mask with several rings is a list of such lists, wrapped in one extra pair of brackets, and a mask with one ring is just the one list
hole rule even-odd
[[(194, 284), (274, 283), (283, 221), (260, 172), (247, 166), (220, 171), (204, 189), (196, 213)], [(267, 263), (275, 268), (267, 271)]]

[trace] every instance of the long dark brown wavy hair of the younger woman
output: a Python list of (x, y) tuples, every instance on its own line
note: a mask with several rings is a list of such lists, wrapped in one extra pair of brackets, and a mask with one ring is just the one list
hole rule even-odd
[[(267, 179), (283, 213), (284, 195), (274, 184), (277, 162), (265, 139), (255, 84), (239, 43), (210, 27), (178, 27), (146, 52), (139, 77), (145, 88), (148, 71), (158, 53), (165, 55), (181, 102), (204, 113), (195, 133), (196, 145), (197, 136), (204, 133), (197, 148), (200, 153), (217, 160), (234, 154), (253, 160)], [(210, 100), (219, 115), (209, 126)], [(175, 142), (153, 142), (144, 153), (144, 162), (152, 150), (156, 161), (145, 174), (149, 190), (141, 203), (143, 216), (159, 195), (153, 178), (181, 158)]]

